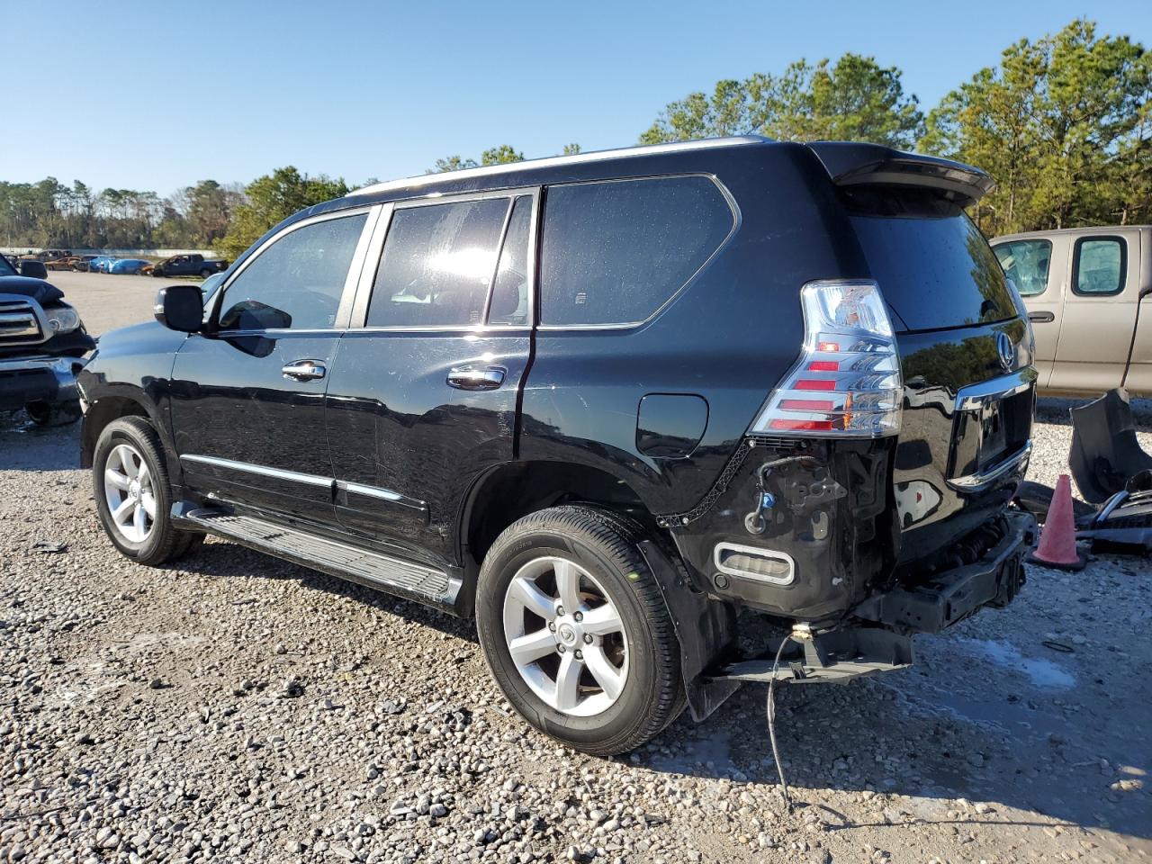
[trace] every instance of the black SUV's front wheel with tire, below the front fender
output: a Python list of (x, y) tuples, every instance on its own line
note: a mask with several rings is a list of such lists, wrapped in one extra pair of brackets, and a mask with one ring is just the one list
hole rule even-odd
[(100, 524), (126, 558), (162, 564), (203, 539), (172, 524), (168, 468), (160, 439), (143, 417), (105, 426), (92, 457), (92, 486)]

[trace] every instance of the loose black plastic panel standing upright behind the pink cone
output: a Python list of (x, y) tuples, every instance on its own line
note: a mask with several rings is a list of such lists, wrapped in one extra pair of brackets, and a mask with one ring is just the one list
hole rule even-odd
[(1152, 471), (1152, 456), (1136, 440), (1128, 391), (1108, 391), (1086, 406), (1073, 408), (1071, 417), (1068, 467), (1085, 500), (1104, 503), (1122, 492), (1130, 479)]

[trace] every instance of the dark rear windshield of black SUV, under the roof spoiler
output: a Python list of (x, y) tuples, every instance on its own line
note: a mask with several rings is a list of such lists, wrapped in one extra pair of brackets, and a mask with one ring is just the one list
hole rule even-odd
[(940, 200), (894, 204), (873, 199), (869, 212), (857, 207), (851, 221), (872, 278), (908, 329), (1016, 317), (1000, 262), (958, 206)]

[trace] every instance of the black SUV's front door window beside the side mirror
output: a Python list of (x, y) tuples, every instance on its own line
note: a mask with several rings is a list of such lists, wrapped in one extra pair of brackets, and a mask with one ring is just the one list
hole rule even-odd
[(260, 252), (228, 286), (221, 329), (334, 326), (366, 219), (362, 214), (305, 225)]

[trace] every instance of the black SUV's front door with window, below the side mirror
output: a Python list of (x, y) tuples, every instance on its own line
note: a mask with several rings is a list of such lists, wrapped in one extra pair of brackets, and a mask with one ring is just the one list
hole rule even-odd
[(195, 491), (333, 522), (324, 394), (376, 214), (318, 217), (272, 237), (222, 287), (209, 332), (180, 349), (172, 424)]

